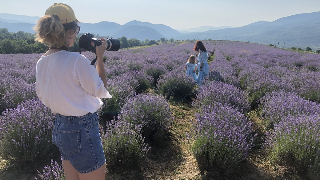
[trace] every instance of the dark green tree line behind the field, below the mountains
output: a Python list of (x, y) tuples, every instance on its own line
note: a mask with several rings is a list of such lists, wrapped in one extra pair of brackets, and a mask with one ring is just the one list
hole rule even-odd
[[(78, 41), (83, 33), (77, 34), (76, 42), (70, 47), (71, 52), (78, 52)], [(100, 36), (99, 34), (93, 34), (95, 37), (108, 38), (108, 36)], [(0, 29), (0, 54), (14, 54), (14, 53), (45, 53), (48, 50), (48, 46), (44, 43), (35, 41), (35, 34), (28, 32), (9, 32), (8, 29)], [(121, 48), (128, 48), (133, 46), (144, 45), (156, 45), (158, 43), (174, 42), (180, 40), (160, 38), (159, 40), (145, 39), (140, 41), (139, 39), (131, 38), (127, 39), (125, 36), (118, 38), (121, 43)]]

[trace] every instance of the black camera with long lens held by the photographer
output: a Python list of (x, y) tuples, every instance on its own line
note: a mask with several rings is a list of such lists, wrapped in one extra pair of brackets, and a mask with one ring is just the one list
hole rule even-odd
[[(96, 50), (91, 45), (91, 42), (94, 42), (97, 46), (102, 44), (101, 39), (95, 38), (93, 34), (85, 33), (79, 38), (79, 50), (95, 53)], [(108, 38), (106, 46), (107, 51), (118, 51), (120, 49), (120, 41), (117, 38)]]

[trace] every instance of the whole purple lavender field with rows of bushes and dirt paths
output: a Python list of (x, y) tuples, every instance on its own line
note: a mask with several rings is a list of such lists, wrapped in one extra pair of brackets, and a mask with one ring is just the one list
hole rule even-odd
[[(203, 42), (200, 86), (185, 70), (195, 42), (105, 53), (107, 179), (320, 179), (320, 55)], [(64, 179), (41, 55), (0, 54), (0, 179)]]

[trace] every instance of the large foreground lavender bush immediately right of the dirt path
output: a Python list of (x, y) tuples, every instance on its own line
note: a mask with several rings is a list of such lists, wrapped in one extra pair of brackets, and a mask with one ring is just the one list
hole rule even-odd
[(231, 105), (202, 106), (189, 139), (200, 166), (224, 172), (234, 169), (253, 147), (252, 123)]

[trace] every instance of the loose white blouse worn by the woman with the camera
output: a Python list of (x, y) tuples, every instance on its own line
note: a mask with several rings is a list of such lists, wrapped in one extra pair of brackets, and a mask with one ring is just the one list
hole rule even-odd
[(96, 68), (79, 53), (58, 51), (41, 56), (36, 65), (36, 93), (52, 113), (83, 116), (111, 98)]

